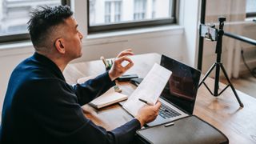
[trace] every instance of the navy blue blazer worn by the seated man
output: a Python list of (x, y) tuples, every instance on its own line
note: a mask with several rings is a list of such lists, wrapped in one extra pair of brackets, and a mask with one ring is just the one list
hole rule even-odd
[(137, 119), (112, 131), (86, 118), (81, 106), (115, 83), (106, 72), (70, 86), (49, 58), (35, 53), (10, 76), (2, 108), (1, 143), (129, 143)]

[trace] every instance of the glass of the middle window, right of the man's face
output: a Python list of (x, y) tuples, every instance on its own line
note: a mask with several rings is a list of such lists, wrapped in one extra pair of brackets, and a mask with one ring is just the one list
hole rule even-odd
[(173, 0), (90, 0), (90, 26), (171, 18), (172, 3)]

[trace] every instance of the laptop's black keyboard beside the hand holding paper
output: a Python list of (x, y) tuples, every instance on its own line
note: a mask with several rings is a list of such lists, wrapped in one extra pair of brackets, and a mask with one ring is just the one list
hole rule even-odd
[(177, 117), (181, 114), (179, 114), (177, 111), (173, 110), (169, 106), (166, 106), (165, 104), (162, 103), (158, 115), (160, 115), (162, 118), (166, 119), (166, 118)]

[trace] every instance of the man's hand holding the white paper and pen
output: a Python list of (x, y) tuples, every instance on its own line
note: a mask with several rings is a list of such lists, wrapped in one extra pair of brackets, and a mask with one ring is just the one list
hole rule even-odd
[(138, 114), (135, 118), (141, 123), (141, 126), (144, 126), (145, 123), (154, 121), (158, 116), (158, 112), (161, 106), (161, 102), (157, 102), (154, 106), (144, 106), (138, 110)]

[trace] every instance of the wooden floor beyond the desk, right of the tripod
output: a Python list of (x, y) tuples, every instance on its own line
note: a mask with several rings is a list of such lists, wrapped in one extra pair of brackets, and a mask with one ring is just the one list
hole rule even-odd
[[(226, 81), (221, 79), (223, 83)], [(240, 90), (254, 98), (256, 98), (256, 78), (251, 74), (241, 74), (239, 78), (231, 78), (231, 83), (236, 90)]]

